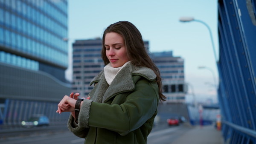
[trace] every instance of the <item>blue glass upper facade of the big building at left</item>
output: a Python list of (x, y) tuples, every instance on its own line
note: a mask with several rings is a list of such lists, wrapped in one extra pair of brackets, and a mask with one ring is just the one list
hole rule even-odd
[(66, 0), (0, 0), (1, 62), (34, 70), (40, 63), (67, 69), (64, 37)]

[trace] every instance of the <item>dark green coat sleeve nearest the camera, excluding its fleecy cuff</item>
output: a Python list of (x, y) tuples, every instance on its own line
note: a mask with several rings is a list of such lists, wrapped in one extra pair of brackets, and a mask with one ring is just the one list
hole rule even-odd
[[(127, 135), (154, 115), (158, 100), (157, 83), (146, 79), (139, 80), (135, 84), (135, 90), (121, 105), (92, 102), (88, 126), (105, 128), (118, 132), (120, 135)], [(86, 114), (83, 115), (86, 116)], [(81, 118), (84, 117), (81, 116)]]

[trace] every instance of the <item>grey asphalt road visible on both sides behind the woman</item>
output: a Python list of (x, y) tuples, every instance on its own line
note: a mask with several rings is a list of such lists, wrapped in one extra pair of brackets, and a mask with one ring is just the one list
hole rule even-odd
[[(16, 137), (3, 138), (3, 134), (0, 135), (0, 144), (84, 144), (83, 138), (78, 138), (73, 133), (69, 132), (66, 126), (62, 128), (58, 127), (58, 130), (52, 130), (53, 127), (35, 129), (36, 131), (30, 131), (30, 134), (19, 135)], [(189, 130), (190, 127), (186, 124), (169, 127), (166, 123), (159, 124), (153, 127), (152, 132), (148, 135), (148, 144), (171, 144), (179, 135)], [(23, 131), (18, 132), (24, 133)], [(16, 135), (16, 134), (15, 134)]]

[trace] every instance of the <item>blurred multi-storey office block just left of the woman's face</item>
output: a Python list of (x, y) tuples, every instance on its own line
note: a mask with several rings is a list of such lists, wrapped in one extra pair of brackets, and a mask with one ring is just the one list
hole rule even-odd
[(102, 40), (76, 40), (73, 43), (73, 84), (72, 91), (79, 92), (80, 97), (87, 97), (93, 89), (90, 81), (105, 66), (102, 57)]

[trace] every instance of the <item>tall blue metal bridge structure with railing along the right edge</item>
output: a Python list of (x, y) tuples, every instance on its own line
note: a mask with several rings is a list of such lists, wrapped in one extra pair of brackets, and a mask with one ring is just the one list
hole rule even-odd
[(256, 143), (256, 3), (218, 0), (222, 134), (230, 144)]

